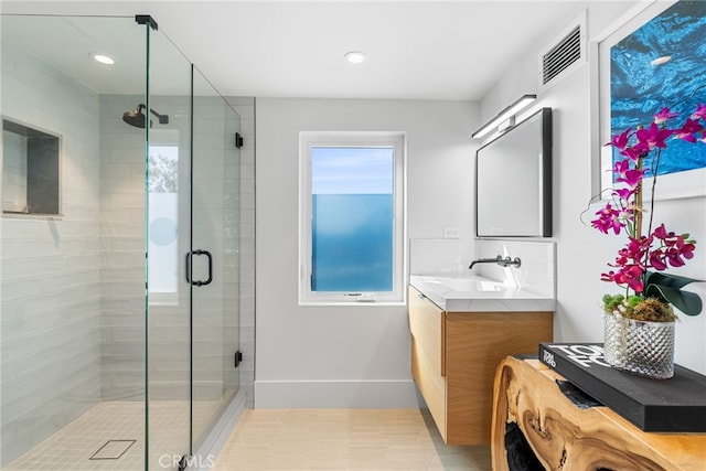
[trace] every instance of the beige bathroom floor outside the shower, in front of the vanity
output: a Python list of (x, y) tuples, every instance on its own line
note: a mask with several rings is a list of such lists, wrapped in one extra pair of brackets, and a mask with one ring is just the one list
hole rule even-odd
[(490, 447), (446, 446), (428, 411), (248, 409), (215, 471), (490, 471)]

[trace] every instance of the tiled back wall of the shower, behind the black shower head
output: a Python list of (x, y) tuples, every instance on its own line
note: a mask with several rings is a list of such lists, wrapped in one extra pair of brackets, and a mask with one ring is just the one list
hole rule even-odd
[[(139, 97), (101, 96), (101, 256), (103, 398), (142, 400), (145, 382), (145, 131), (120, 117)], [(151, 143), (179, 146), (178, 292), (171, 301), (149, 303), (150, 398), (188, 399), (190, 395), (190, 306), (193, 306), (194, 398), (218, 399), (237, 385), (233, 354), (238, 329), (239, 169), (233, 133), (224, 126), (220, 97), (194, 98), (193, 216), (190, 188), (190, 122), (188, 97), (153, 97), (150, 106), (169, 115), (169, 126), (154, 124)], [(190, 289), (184, 257), (189, 251), (190, 217), (193, 248), (210, 250), (213, 281)], [(225, 224), (223, 222), (225, 221)], [(221, 256), (222, 254), (222, 256)], [(191, 257), (194, 278), (205, 279), (205, 257)], [(224, 368), (225, 366), (225, 368)]]

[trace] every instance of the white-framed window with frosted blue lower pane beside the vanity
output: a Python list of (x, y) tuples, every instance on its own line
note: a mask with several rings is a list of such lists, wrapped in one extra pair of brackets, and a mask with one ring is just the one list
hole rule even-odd
[(404, 301), (404, 135), (300, 135), (300, 303)]

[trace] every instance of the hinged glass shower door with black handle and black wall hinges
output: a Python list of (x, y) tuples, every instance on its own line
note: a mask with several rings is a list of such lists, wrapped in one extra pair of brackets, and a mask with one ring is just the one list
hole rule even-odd
[(238, 386), (240, 119), (195, 67), (193, 118), (192, 454), (207, 464), (208, 432)]

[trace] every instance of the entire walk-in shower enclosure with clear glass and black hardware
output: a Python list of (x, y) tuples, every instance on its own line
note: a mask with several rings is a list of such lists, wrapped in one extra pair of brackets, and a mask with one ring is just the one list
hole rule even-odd
[(0, 468), (211, 467), (238, 390), (239, 117), (150, 17), (1, 34)]

